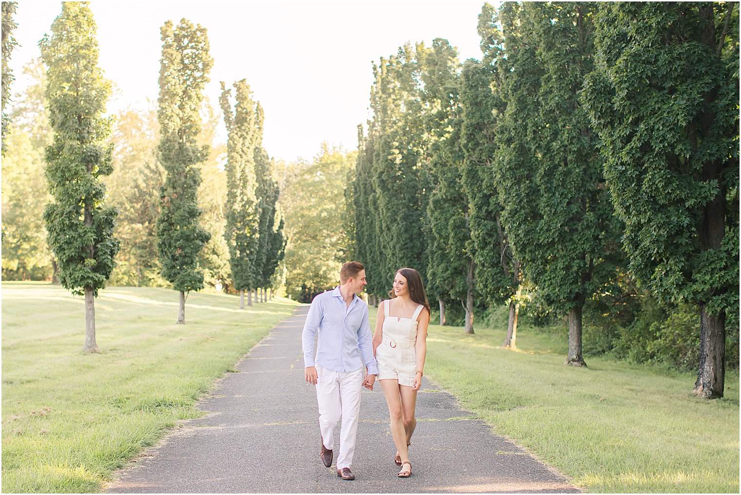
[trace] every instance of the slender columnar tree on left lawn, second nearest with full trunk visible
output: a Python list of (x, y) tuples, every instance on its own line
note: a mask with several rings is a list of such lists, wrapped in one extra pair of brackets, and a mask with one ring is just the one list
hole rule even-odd
[(206, 30), (182, 19), (162, 27), (159, 71), (159, 159), (167, 177), (160, 192), (157, 252), (162, 276), (180, 293), (178, 323), (185, 324), (185, 299), (203, 288), (198, 255), (210, 234), (198, 222), (201, 174), (197, 165), (208, 156), (208, 146), (196, 144), (201, 127), (199, 110), (213, 59), (208, 54)]

